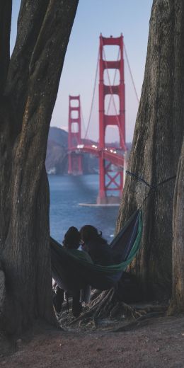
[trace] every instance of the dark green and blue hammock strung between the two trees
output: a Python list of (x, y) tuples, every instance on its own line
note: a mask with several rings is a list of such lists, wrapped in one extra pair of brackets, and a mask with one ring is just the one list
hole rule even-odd
[(79, 290), (87, 284), (99, 290), (114, 287), (122, 272), (139, 251), (142, 237), (142, 212), (138, 209), (110, 243), (119, 263), (101, 266), (84, 260), (82, 251), (67, 252), (57, 241), (51, 241), (52, 277), (64, 290)]

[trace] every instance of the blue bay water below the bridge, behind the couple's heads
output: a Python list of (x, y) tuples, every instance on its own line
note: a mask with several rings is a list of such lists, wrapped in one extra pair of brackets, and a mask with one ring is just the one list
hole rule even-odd
[(91, 224), (112, 241), (118, 207), (81, 207), (79, 203), (96, 203), (98, 175), (49, 176), (50, 233), (59, 243), (69, 226)]

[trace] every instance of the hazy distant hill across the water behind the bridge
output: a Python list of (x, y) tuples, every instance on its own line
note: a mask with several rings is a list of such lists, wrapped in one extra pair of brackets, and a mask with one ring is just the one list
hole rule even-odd
[[(85, 144), (93, 144), (96, 142), (85, 139)], [(117, 146), (117, 142), (108, 144), (108, 146)], [(131, 143), (127, 143), (128, 154), (131, 149)], [(48, 142), (47, 142), (47, 156), (45, 166), (49, 174), (64, 174), (67, 173), (68, 168), (68, 132), (57, 127), (50, 127)], [(98, 158), (90, 154), (84, 154), (83, 157), (84, 173), (98, 172)]]

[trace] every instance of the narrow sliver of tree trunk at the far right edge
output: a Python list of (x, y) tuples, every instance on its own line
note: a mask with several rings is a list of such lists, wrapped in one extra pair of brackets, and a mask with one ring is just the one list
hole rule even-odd
[(173, 200), (173, 293), (168, 313), (184, 312), (184, 139)]

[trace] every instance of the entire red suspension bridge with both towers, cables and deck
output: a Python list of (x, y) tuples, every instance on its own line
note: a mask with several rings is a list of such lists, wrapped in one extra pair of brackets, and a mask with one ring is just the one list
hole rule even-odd
[[(117, 46), (117, 60), (107, 60), (105, 57), (105, 46)], [(82, 175), (82, 156), (83, 153), (98, 156), (99, 160), (99, 192), (97, 198), (98, 205), (108, 205), (120, 202), (123, 184), (125, 179), (125, 155), (127, 151), (125, 143), (125, 72), (123, 51), (125, 45), (123, 36), (113, 38), (105, 38), (100, 35), (100, 47), (98, 52), (99, 67), (99, 85), (98, 85), (98, 122), (99, 122), (99, 140), (94, 144), (87, 138), (88, 127), (91, 122), (91, 111), (94, 100), (94, 91), (96, 81), (93, 88), (93, 98), (91, 103), (90, 117), (84, 138), (81, 137), (81, 100), (80, 96), (69, 96), (69, 135), (68, 135), (68, 173), (69, 175)], [(127, 53), (125, 50), (125, 55)], [(128, 62), (128, 59), (127, 59)], [(130, 69), (130, 64), (128, 62)], [(110, 81), (110, 69), (115, 69), (115, 76), (119, 72), (120, 81), (115, 84), (115, 76), (113, 83)], [(108, 82), (104, 81), (104, 74), (108, 76)], [(130, 70), (132, 78), (132, 72)], [(134, 86), (134, 81), (132, 79)], [(137, 92), (134, 86), (134, 91)], [(110, 96), (108, 108), (105, 110), (105, 98)], [(118, 98), (115, 103), (115, 96)], [(138, 97), (137, 97), (138, 100)], [(113, 105), (113, 114), (110, 113), (110, 104)], [(117, 127), (119, 134), (119, 146), (109, 146), (105, 142), (105, 131), (108, 126)], [(113, 195), (111, 194), (113, 193)]]

